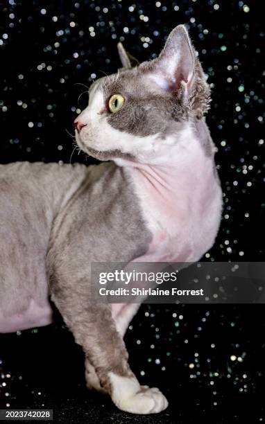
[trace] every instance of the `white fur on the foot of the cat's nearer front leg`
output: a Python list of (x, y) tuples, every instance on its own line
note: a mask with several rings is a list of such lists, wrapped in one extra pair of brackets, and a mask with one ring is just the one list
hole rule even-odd
[(112, 400), (122, 411), (132, 414), (155, 414), (168, 406), (164, 395), (156, 387), (140, 386), (135, 377), (121, 377), (109, 373)]

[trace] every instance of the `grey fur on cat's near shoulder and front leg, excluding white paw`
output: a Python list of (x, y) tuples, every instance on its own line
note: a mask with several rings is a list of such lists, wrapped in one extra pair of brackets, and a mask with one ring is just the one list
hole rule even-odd
[(53, 224), (47, 255), (52, 299), (107, 391), (108, 371), (126, 376), (131, 371), (110, 306), (95, 305), (89, 297), (90, 264), (132, 260), (150, 241), (126, 171), (113, 163), (89, 173)]

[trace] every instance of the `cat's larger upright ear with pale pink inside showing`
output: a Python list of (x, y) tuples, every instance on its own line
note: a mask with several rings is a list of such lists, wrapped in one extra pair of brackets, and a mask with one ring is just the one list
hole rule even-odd
[[(160, 87), (188, 93), (194, 82), (195, 51), (184, 25), (174, 28), (159, 57), (153, 60), (151, 73)], [(151, 62), (151, 63), (152, 63)]]

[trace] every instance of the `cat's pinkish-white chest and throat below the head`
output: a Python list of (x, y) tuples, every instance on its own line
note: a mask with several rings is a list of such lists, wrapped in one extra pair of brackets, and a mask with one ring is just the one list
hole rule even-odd
[(152, 242), (141, 260), (193, 262), (212, 247), (221, 220), (221, 188), (212, 157), (196, 139), (180, 147), (174, 167), (133, 176)]

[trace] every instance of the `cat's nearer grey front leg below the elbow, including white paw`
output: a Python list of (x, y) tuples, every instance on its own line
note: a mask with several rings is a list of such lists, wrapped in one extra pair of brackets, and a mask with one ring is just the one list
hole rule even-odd
[(165, 409), (168, 403), (164, 395), (156, 388), (140, 386), (132, 373), (110, 306), (89, 301), (84, 281), (73, 285), (66, 278), (53, 275), (51, 299), (94, 366), (103, 390), (126, 412), (151, 414)]

